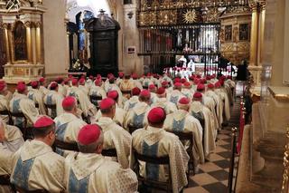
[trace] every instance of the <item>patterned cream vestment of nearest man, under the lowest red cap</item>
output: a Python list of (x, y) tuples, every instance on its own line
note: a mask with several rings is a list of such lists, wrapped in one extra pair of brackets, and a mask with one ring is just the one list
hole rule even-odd
[(98, 154), (71, 153), (65, 159), (64, 182), (68, 192), (137, 192), (133, 170), (122, 169), (117, 162)]

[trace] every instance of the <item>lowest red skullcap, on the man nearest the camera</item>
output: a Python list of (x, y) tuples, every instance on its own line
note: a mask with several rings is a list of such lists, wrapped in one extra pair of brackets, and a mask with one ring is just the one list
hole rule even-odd
[(79, 130), (78, 142), (81, 145), (89, 145), (98, 141), (101, 129), (97, 124), (85, 125)]

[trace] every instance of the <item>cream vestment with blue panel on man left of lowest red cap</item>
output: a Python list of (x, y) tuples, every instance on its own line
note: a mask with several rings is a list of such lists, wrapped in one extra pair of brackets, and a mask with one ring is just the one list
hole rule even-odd
[(11, 182), (26, 190), (64, 190), (64, 158), (40, 140), (26, 140), (13, 157)]

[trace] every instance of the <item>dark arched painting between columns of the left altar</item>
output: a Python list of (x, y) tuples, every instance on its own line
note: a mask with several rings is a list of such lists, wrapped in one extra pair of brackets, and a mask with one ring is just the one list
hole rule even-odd
[(26, 28), (22, 22), (14, 27), (14, 56), (15, 61), (27, 60)]

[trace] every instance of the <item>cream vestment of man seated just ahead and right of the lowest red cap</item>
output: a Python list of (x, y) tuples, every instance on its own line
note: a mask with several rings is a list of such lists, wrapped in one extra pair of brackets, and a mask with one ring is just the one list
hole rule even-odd
[(101, 117), (97, 124), (104, 133), (104, 150), (116, 149), (117, 161), (124, 168), (129, 167), (129, 154), (132, 136), (110, 118)]

